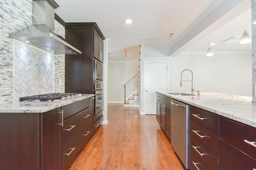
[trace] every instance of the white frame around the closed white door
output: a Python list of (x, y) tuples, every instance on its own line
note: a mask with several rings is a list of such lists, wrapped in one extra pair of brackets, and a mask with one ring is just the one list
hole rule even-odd
[(143, 62), (143, 90), (142, 90), (142, 94), (143, 94), (143, 112), (141, 112), (141, 114), (145, 115), (146, 114), (146, 63), (166, 63), (167, 65), (167, 74), (166, 74), (166, 79), (167, 79), (167, 92), (169, 91), (169, 85), (170, 85), (170, 61), (144, 61)]

